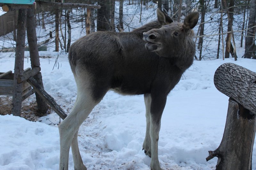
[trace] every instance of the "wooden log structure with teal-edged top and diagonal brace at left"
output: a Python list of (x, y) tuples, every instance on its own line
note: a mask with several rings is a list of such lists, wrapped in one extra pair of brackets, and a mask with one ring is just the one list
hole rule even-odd
[[(44, 6), (53, 6), (55, 8), (84, 7), (99, 9), (100, 6), (73, 3), (52, 3), (35, 0), (0, 0), (0, 6), (2, 6), (4, 11), (7, 12), (12, 10), (19, 10), (17, 21), (17, 41), (15, 48), (14, 74), (12, 74), (12, 71), (8, 71), (0, 75), (0, 94), (12, 95), (12, 114), (20, 116), (22, 100), (36, 92), (38, 112), (43, 114), (46, 113), (48, 109), (46, 103), (48, 103), (53, 108), (53, 110), (62, 119), (64, 119), (67, 115), (54, 101), (54, 99), (44, 91), (42, 75), (40, 73), (41, 68), (36, 38), (36, 21), (34, 17), (36, 3)], [(29, 68), (28, 70), (26, 69), (24, 71), (26, 30), (27, 34), (30, 35), (28, 36), (28, 47), (31, 60), (31, 69)]]

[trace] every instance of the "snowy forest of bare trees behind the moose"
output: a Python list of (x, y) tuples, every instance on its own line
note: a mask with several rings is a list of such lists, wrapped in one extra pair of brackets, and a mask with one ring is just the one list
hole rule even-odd
[[(55, 0), (51, 2), (63, 2)], [(99, 0), (64, 1), (65, 3), (95, 4), (100, 9), (89, 8), (47, 8), (38, 5), (36, 25), (38, 45), (48, 51), (68, 52), (70, 44), (78, 38), (95, 31), (128, 32), (156, 18), (155, 12), (143, 17), (149, 8), (161, 8), (174, 21), (183, 22), (188, 13), (198, 11), (200, 18), (194, 28), (197, 53), (195, 60), (218, 58), (255, 57), (256, 0)], [(157, 5), (156, 5), (157, 4)], [(129, 6), (140, 16), (127, 13)], [(156, 11), (156, 10), (153, 10)], [(134, 17), (139, 17), (134, 19)], [(132, 21), (135, 21), (134, 23)], [(139, 20), (139, 22), (138, 22)], [(15, 25), (15, 23), (13, 24)], [(80, 28), (80, 37), (72, 37), (72, 32)], [(44, 33), (42, 33), (44, 32)], [(0, 51), (10, 51), (15, 47), (16, 31), (0, 38)], [(244, 55), (237, 56), (237, 50)]]

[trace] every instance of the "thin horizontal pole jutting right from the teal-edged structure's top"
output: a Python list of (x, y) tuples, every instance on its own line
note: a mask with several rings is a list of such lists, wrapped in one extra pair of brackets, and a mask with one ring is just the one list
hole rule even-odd
[(90, 4), (76, 4), (76, 3), (57, 3), (57, 2), (46, 2), (46, 1), (36, 1), (37, 4), (49, 7), (61, 7), (61, 8), (92, 8), (100, 9), (100, 5), (90, 5)]

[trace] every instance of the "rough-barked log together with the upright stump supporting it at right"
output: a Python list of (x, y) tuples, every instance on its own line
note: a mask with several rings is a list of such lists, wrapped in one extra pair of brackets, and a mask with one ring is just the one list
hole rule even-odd
[(256, 132), (256, 73), (232, 63), (215, 72), (214, 85), (229, 98), (228, 114), (220, 146), (206, 160), (218, 157), (216, 169), (252, 169)]

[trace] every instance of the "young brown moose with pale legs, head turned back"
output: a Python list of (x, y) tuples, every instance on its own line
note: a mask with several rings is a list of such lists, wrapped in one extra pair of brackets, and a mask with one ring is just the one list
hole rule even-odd
[(196, 45), (193, 28), (199, 14), (194, 11), (184, 23), (160, 9), (157, 20), (132, 32), (95, 32), (74, 42), (68, 59), (77, 85), (77, 97), (70, 114), (59, 124), (60, 170), (68, 170), (71, 146), (76, 170), (84, 166), (77, 141), (79, 126), (104, 95), (144, 95), (146, 136), (142, 145), (151, 157), (151, 169), (161, 169), (158, 139), (168, 93), (193, 63)]

